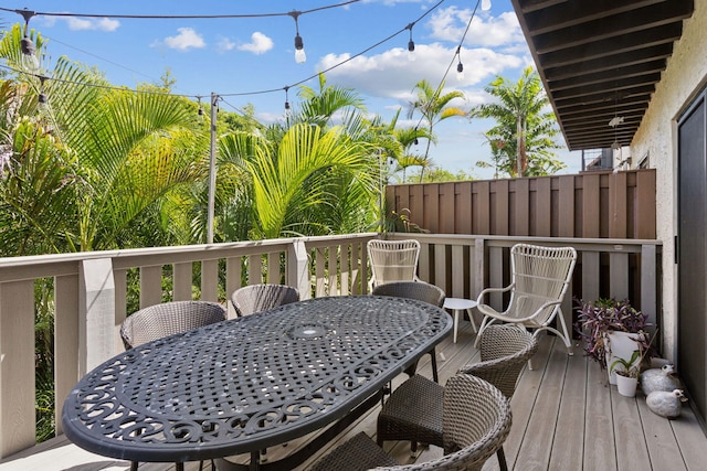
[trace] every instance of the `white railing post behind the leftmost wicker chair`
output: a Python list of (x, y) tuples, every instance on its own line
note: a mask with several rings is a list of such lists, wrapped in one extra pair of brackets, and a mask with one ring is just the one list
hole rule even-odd
[(83, 260), (78, 276), (78, 371), (84, 375), (115, 354), (113, 263)]

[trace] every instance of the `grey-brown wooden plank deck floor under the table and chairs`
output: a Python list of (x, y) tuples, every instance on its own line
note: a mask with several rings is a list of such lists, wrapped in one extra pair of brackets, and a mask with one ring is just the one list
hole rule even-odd
[[(541, 344), (526, 368), (513, 398), (513, 428), (505, 445), (513, 470), (704, 470), (707, 438), (689, 407), (677, 420), (651, 413), (642, 395), (626, 398), (610, 387), (606, 374), (582, 356), (579, 347), (568, 356), (564, 345), (553, 336), (541, 335)], [(450, 335), (439, 347), (440, 379), (445, 382), (460, 366), (478, 361), (473, 347), (474, 333), (462, 322), (457, 343)], [(431, 375), (429, 355), (421, 373)], [(404, 379), (402, 375), (399, 381)], [(331, 447), (359, 430), (376, 432), (378, 408), (363, 416)], [(268, 449), (267, 458), (292, 452), (297, 442)], [(316, 460), (330, 448), (320, 450)], [(409, 443), (388, 442), (386, 451), (401, 463), (412, 462)], [(418, 460), (441, 456), (441, 449), (424, 449)], [(307, 464), (298, 468), (306, 470)], [(88, 453), (63, 437), (0, 461), (0, 471), (18, 470), (126, 470), (129, 463)], [(144, 463), (144, 471), (171, 471), (170, 463)], [(199, 463), (188, 463), (189, 471)], [(205, 469), (209, 469), (205, 467)], [(484, 470), (497, 470), (492, 458)]]

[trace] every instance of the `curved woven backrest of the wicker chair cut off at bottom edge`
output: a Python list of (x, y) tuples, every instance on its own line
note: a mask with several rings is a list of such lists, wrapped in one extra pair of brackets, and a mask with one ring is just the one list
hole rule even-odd
[(503, 447), (510, 431), (510, 404), (490, 383), (457, 374), (444, 386), (442, 405), (444, 457), (376, 471), (481, 470)]

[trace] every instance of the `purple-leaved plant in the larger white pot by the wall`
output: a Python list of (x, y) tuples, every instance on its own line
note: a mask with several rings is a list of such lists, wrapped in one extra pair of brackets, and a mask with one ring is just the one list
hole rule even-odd
[(576, 330), (584, 340), (585, 354), (597, 361), (602, 370), (608, 368), (609, 383), (616, 384), (616, 375), (611, 367), (616, 358), (629, 361), (637, 350), (640, 353), (631, 364), (640, 367), (648, 351), (650, 335), (645, 331), (650, 325), (648, 317), (633, 308), (627, 300), (600, 298), (593, 302), (581, 299), (576, 302)]

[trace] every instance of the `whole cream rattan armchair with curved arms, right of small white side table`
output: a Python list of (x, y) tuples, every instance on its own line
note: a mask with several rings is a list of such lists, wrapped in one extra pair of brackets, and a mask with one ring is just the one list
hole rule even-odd
[[(511, 283), (505, 288), (486, 288), (477, 299), (478, 311), (484, 315), (476, 343), (484, 330), (494, 322), (508, 322), (535, 329), (537, 335), (542, 330), (557, 334), (572, 354), (572, 344), (567, 331), (560, 303), (569, 287), (577, 261), (577, 250), (572, 247), (541, 247), (516, 244), (510, 249), (513, 269)], [(510, 291), (510, 300), (505, 311), (498, 312), (485, 298), (494, 292)], [(559, 314), (559, 315), (558, 315)], [(551, 322), (559, 319), (562, 332)]]

